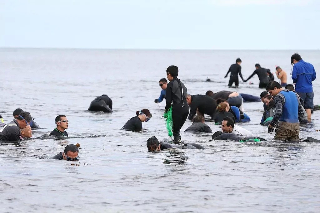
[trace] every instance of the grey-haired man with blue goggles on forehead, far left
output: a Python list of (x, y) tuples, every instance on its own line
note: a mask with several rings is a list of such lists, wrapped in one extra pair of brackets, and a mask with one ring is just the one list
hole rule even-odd
[(32, 117), (29, 112), (22, 111), (18, 117), (0, 129), (0, 140), (21, 141), (20, 129), (29, 125)]

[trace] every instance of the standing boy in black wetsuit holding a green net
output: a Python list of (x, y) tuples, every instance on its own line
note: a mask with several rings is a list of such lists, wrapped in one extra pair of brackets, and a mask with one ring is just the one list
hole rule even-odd
[(179, 69), (171, 65), (166, 70), (167, 84), (165, 112), (172, 106), (172, 132), (173, 141), (181, 142), (180, 129), (188, 117), (189, 106), (187, 103), (187, 88), (178, 79)]

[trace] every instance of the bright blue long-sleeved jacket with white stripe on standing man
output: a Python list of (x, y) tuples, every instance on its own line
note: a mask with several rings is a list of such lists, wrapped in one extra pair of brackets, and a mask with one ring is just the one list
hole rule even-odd
[(296, 92), (312, 92), (312, 81), (316, 79), (316, 71), (312, 64), (302, 59), (294, 64), (291, 69), (293, 83), (296, 84)]

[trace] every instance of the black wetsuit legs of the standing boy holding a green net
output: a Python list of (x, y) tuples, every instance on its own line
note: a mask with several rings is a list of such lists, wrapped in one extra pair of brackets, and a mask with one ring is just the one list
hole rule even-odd
[(173, 142), (181, 141), (180, 129), (189, 114), (189, 105), (187, 102), (182, 106), (182, 102), (179, 104), (172, 105), (172, 132)]

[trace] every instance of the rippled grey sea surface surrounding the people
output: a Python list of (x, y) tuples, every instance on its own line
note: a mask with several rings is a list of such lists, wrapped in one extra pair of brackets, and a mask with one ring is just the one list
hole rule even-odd
[[(162, 118), (164, 102), (158, 81), (169, 65), (192, 95), (207, 90), (234, 90), (259, 96), (254, 76), (239, 88), (228, 88), (224, 76), (237, 57), (246, 79), (259, 63), (290, 78), (290, 57), (284, 50), (103, 50), (0, 49), (0, 114), (10, 122), (22, 108), (42, 127), (30, 140), (0, 142), (0, 212), (319, 212), (320, 111), (301, 126), (299, 143), (272, 140), (260, 126), (262, 102), (244, 103), (251, 122), (240, 124), (268, 142), (212, 141), (212, 134), (183, 133), (186, 143), (205, 149), (148, 152), (146, 141), (172, 141)], [(320, 51), (299, 51), (320, 70)], [(318, 73), (318, 72), (317, 72)], [(320, 77), (320, 76), (319, 76)], [(205, 82), (210, 78), (212, 82)], [(292, 83), (289, 79), (288, 83)], [(314, 104), (320, 104), (319, 80)], [(102, 94), (113, 100), (114, 112), (87, 111)], [(152, 118), (140, 133), (122, 130), (137, 110)], [(55, 117), (67, 115), (69, 138), (48, 138)], [(219, 131), (209, 117), (206, 123)], [(80, 143), (79, 161), (43, 160), (67, 144)]]

